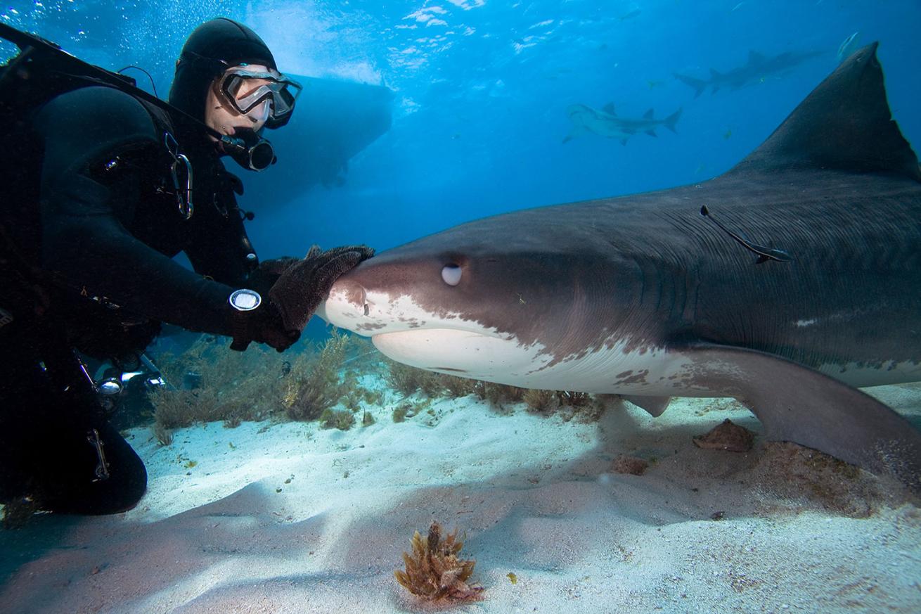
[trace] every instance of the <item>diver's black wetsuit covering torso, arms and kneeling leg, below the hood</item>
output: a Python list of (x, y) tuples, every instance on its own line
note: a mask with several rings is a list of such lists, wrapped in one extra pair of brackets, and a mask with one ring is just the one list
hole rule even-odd
[[(0, 203), (0, 308), (12, 317), (0, 326), (0, 502), (28, 494), (42, 509), (117, 512), (144, 493), (145, 468), (102, 416), (71, 348), (99, 359), (141, 351), (159, 322), (229, 335), (227, 297), (258, 285), (248, 279), (258, 263), (239, 180), (206, 136), (175, 135), (194, 172), (185, 219), (163, 129), (130, 95), (77, 89), (48, 102), (33, 126), (38, 203), (29, 186)], [(170, 259), (180, 252), (195, 272)], [(94, 429), (107, 479), (87, 441)]]

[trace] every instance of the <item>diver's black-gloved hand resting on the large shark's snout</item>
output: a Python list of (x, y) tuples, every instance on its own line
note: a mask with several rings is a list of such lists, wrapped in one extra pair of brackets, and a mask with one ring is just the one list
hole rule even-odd
[(374, 255), (367, 245), (346, 245), (326, 252), (314, 245), (303, 260), (288, 266), (269, 290), (288, 331), (301, 331), (330, 294), (332, 282)]

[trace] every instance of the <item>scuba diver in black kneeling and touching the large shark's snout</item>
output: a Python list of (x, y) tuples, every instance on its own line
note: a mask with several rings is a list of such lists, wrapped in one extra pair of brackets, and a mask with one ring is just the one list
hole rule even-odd
[[(242, 183), (221, 158), (251, 171), (273, 163), (262, 132), (288, 122), (299, 86), (250, 28), (216, 18), (195, 29), (169, 105), (117, 78), (61, 81), (66, 67), (42, 80), (53, 62), (36, 53), (58, 48), (32, 39), (0, 69), (6, 110), (32, 102), (3, 115), (17, 147), (0, 160), (0, 503), (114, 514), (140, 500), (146, 469), (75, 350), (136, 360), (167, 323), (283, 351), (373, 250), (314, 246), (259, 262)], [(52, 56), (79, 72), (73, 56)], [(64, 91), (49, 97), (42, 84)], [(181, 252), (193, 271), (172, 260)]]

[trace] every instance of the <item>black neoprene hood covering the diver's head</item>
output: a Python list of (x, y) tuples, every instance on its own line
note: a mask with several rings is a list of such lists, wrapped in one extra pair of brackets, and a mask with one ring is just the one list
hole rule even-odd
[(233, 19), (205, 21), (182, 46), (169, 103), (204, 122), (204, 101), (211, 81), (227, 66), (244, 63), (277, 70), (272, 52), (256, 32)]

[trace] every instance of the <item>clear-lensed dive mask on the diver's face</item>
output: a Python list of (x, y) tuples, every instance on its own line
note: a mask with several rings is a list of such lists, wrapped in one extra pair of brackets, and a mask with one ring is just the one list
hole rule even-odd
[(218, 91), (230, 106), (243, 115), (260, 105), (268, 107), (265, 127), (279, 128), (291, 119), (301, 89), (297, 81), (277, 71), (250, 70), (247, 65), (239, 65), (227, 68)]

